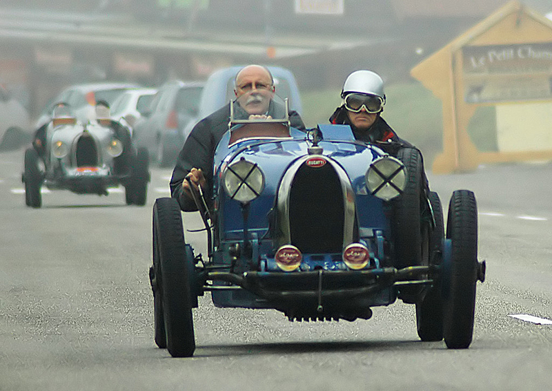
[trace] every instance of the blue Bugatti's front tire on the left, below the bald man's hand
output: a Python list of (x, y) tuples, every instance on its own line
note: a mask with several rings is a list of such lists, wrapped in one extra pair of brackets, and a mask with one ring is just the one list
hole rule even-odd
[(173, 357), (189, 357), (195, 350), (190, 297), (190, 259), (184, 242), (180, 207), (172, 198), (158, 198), (153, 206), (159, 268), (161, 269), (162, 304), (168, 352)]

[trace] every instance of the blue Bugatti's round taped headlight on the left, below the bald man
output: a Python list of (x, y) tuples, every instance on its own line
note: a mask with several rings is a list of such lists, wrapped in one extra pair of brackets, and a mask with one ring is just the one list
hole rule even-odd
[(230, 198), (246, 204), (264, 190), (264, 173), (257, 164), (242, 158), (224, 170), (222, 185)]

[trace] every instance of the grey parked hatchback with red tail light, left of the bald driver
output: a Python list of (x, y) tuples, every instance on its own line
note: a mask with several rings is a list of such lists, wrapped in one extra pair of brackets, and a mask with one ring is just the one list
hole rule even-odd
[(204, 84), (174, 80), (163, 84), (146, 113), (134, 126), (137, 146), (144, 146), (159, 166), (172, 166), (188, 132), (188, 122), (197, 117)]

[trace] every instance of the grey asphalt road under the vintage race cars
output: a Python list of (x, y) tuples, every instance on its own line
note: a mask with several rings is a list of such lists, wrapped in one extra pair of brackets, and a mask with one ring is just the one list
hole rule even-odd
[[(23, 150), (0, 154), (0, 390), (547, 390), (552, 383), (552, 164), (430, 176), (446, 207), (475, 191), (479, 255), (469, 350), (417, 338), (413, 305), (369, 321), (290, 323), (273, 310), (195, 310), (197, 350), (153, 342), (151, 213), (170, 170), (152, 169), (146, 207), (124, 193), (43, 193), (25, 207)], [(186, 227), (200, 227), (186, 213)], [(186, 234), (201, 249), (197, 234)]]

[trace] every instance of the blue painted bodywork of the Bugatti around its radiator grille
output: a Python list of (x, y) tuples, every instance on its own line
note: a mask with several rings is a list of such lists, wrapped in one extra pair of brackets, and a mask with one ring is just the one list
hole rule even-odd
[[(366, 285), (366, 279), (372, 280), (384, 267), (388, 267), (386, 260), (385, 242), (389, 235), (390, 226), (389, 206), (380, 198), (371, 196), (365, 183), (365, 174), (370, 164), (384, 155), (384, 151), (373, 145), (355, 141), (351, 128), (345, 125), (319, 125), (319, 134), (322, 140), (318, 143), (322, 147), (321, 155), (326, 160), (341, 167), (350, 182), (355, 204), (355, 219), (359, 242), (366, 245), (371, 253), (371, 263), (365, 270), (355, 271), (355, 276), (342, 260), (340, 252), (326, 254), (302, 254), (303, 261), (299, 271), (284, 273), (277, 267), (274, 255), (277, 250), (277, 238), (274, 236), (274, 215), (277, 209), (277, 195), (282, 186), (285, 173), (293, 169), (294, 163), (308, 157), (309, 147), (313, 144), (309, 133), (290, 128), (290, 136), (284, 139), (266, 140), (250, 138), (230, 144), (230, 131), (222, 137), (215, 153), (215, 251), (213, 265), (233, 264), (232, 249), (239, 245), (248, 251), (240, 254), (240, 260), (235, 264), (235, 272), (247, 272), (248, 265), (258, 263), (256, 274), (259, 278), (277, 274), (286, 278), (304, 271), (323, 270), (324, 272), (347, 272), (348, 280), (357, 279), (359, 286)], [(233, 162), (245, 158), (257, 164), (265, 175), (266, 187), (259, 198), (253, 200), (246, 207), (242, 203), (232, 200), (221, 188), (221, 175), (224, 169)], [(324, 211), (320, 211), (322, 216)], [(332, 221), (327, 222), (333, 224)], [(235, 260), (234, 260), (235, 262)], [(233, 266), (234, 267), (234, 266)], [(365, 274), (363, 275), (363, 273)], [(312, 281), (305, 278), (301, 284), (312, 285)], [(218, 284), (223, 284), (217, 282)], [(215, 284), (217, 284), (215, 283)], [(277, 285), (278, 282), (276, 281)], [(353, 283), (355, 285), (355, 283)], [(316, 289), (316, 287), (314, 287)], [(221, 307), (274, 307), (273, 303), (259, 298), (247, 290), (215, 290), (212, 292), (213, 302)], [(364, 299), (364, 305), (387, 305), (395, 301), (395, 289), (392, 286), (380, 289), (370, 298)]]

